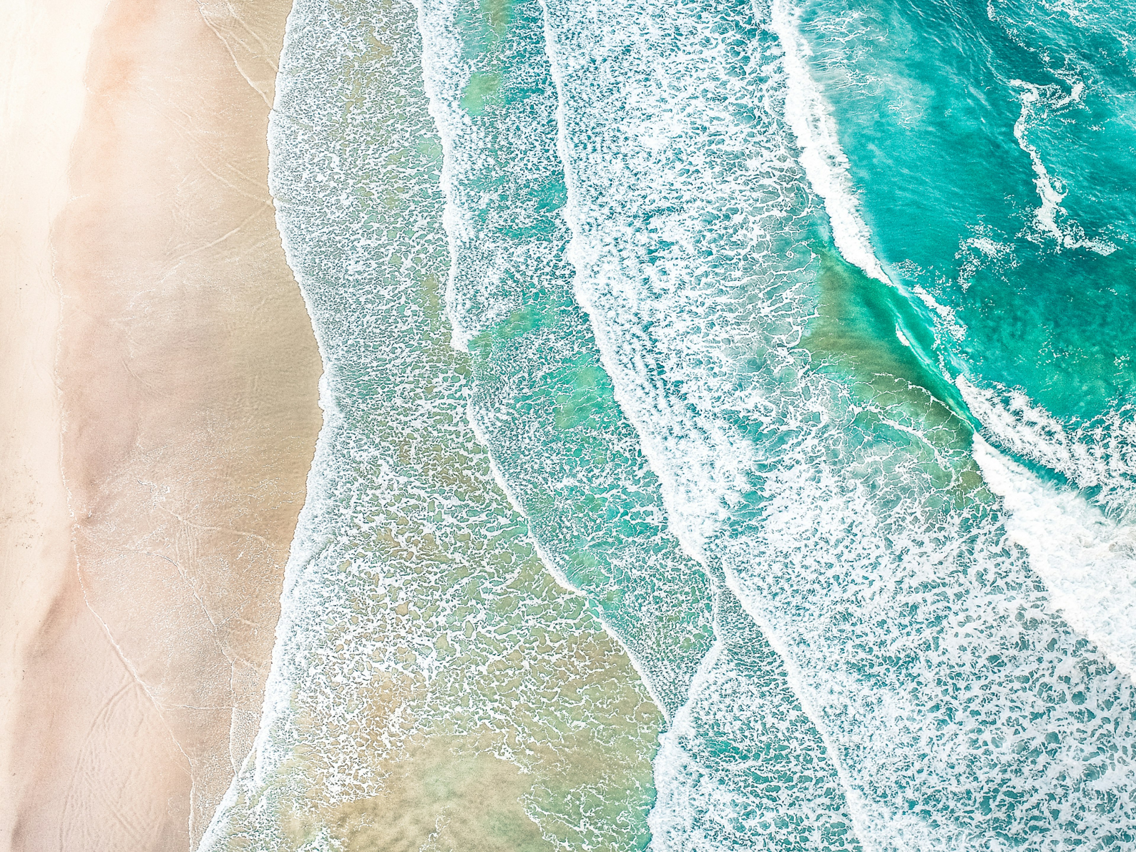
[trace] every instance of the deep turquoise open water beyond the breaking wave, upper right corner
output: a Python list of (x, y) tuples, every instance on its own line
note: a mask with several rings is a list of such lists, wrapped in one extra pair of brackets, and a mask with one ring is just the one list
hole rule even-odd
[(1041, 434), (1014, 449), (1126, 494), (1133, 18), (1125, 3), (801, 9), (872, 247), (966, 329), (938, 324), (947, 370), (996, 398), (1024, 392), (1093, 463), (1054, 463)]

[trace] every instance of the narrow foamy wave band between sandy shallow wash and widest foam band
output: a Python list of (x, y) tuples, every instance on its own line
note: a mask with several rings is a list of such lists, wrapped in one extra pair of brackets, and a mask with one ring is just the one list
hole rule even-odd
[[(567, 228), (558, 211), (538, 204), (540, 193), (546, 190), (549, 166), (559, 165), (553, 151), (556, 97), (548, 69), (541, 67), (544, 56), (538, 22), (526, 24), (527, 18), (515, 15), (500, 53), (471, 55), (462, 40), (459, 9), (453, 2), (419, 2), (418, 25), (424, 37), (423, 68), (431, 114), (444, 151), (442, 184), (450, 245), (446, 310), (451, 326), (461, 329), (460, 334), (456, 331), (454, 345), (468, 348), (474, 336), (492, 333), (504, 318), (525, 310), (528, 291), (553, 296), (559, 291), (560, 299), (566, 298), (570, 292), (570, 267), (562, 259)], [(481, 36), (483, 25), (478, 19), (465, 26), (474, 31), (467, 37), (476, 41)], [(523, 61), (523, 67), (509, 65), (517, 61)], [(503, 77), (502, 64), (509, 67)], [(498, 85), (524, 85), (528, 97), (508, 108), (496, 101), (482, 105), (478, 114), (470, 114), (462, 97), (476, 74), (494, 74)], [(507, 109), (512, 114), (501, 112)], [(504, 183), (496, 166), (502, 157), (509, 158)], [(544, 236), (518, 237), (518, 231)], [(545, 304), (544, 310), (550, 307)], [(538, 310), (540, 303), (528, 308)], [(690, 677), (703, 652), (696, 636), (709, 633), (708, 595), (695, 600), (695, 591), (705, 586), (707, 579), (663, 528), (640, 524), (635, 540), (627, 541), (624, 533), (611, 528), (610, 519), (588, 508), (601, 502), (633, 502), (636, 511), (646, 515), (643, 510), (653, 500), (645, 495), (657, 491), (658, 483), (642, 459), (628, 457), (627, 449), (637, 448), (629, 427), (619, 421), (586, 433), (586, 443), (602, 443), (603, 450), (596, 453), (588, 449), (584, 458), (602, 458), (602, 462), (599, 468), (577, 469), (586, 446), (574, 443), (580, 437), (558, 429), (558, 412), (545, 408), (546, 394), (559, 396), (569, 389), (562, 379), (545, 385), (542, 376), (553, 383), (558, 365), (562, 373), (563, 365), (579, 365), (587, 359), (591, 341), (579, 339), (586, 329), (582, 316), (561, 316), (558, 326), (557, 337), (529, 329), (523, 341), (510, 341), (508, 366), (475, 362), (467, 418), (490, 453), (498, 485), (529, 520), (529, 538), (557, 582), (593, 602), (610, 598), (640, 601), (634, 612), (598, 607), (598, 617), (624, 648), (669, 719), (685, 700)], [(520, 370), (518, 375), (513, 375), (516, 369)], [(644, 482), (644, 475), (650, 481)], [(546, 495), (557, 490), (554, 479), (575, 481), (571, 487), (578, 496), (567, 511), (553, 510), (551, 517), (543, 517), (550, 513)], [(632, 499), (630, 494), (636, 496)], [(663, 513), (658, 515), (665, 523)], [(578, 571), (582, 554), (577, 542), (582, 540), (594, 544), (583, 559), (595, 565), (574, 582), (569, 570), (575, 567)], [(646, 590), (655, 591), (648, 594)], [(663, 590), (669, 593), (660, 594)], [(684, 601), (687, 605), (680, 611)], [(700, 607), (704, 615), (700, 615)], [(688, 633), (683, 650), (660, 641), (665, 626)]]

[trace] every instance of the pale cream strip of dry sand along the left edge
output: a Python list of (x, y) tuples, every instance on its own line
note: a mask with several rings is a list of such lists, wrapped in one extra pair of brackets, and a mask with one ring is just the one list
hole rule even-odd
[[(51, 222), (67, 201), (91, 34), (105, 0), (0, 3), (0, 847), (32, 780), (16, 762), (20, 685), (52, 602), (74, 582), (55, 385)], [(98, 655), (98, 635), (91, 649)], [(105, 654), (103, 654), (105, 657)], [(94, 662), (103, 665), (105, 659)], [(114, 663), (114, 658), (110, 659)], [(119, 667), (120, 668), (120, 667)], [(112, 669), (112, 665), (111, 665)], [(108, 679), (114, 671), (107, 671)], [(34, 679), (34, 674), (33, 674)]]

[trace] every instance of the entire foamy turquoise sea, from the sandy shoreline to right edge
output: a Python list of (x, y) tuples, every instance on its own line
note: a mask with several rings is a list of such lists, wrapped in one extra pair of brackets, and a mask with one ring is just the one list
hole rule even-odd
[(295, 0), (325, 364), (203, 850), (1136, 850), (1136, 5)]

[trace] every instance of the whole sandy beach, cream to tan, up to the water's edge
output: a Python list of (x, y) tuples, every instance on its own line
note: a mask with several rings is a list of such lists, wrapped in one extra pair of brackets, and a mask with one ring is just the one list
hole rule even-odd
[(0, 320), (12, 849), (190, 847), (251, 746), (320, 421), (267, 192), (289, 6), (3, 12), (27, 53)]

